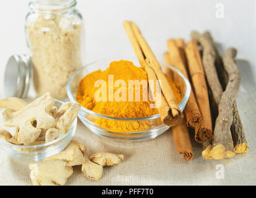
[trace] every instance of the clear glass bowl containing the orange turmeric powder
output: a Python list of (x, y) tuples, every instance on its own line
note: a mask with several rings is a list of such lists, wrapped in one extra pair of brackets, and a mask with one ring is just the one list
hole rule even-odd
[[(104, 71), (105, 69), (107, 69), (110, 62), (120, 59), (123, 58), (110, 58), (95, 61), (90, 64), (87, 64), (86, 66), (76, 71), (69, 79), (67, 85), (68, 98), (71, 101), (71, 103), (77, 103), (77, 88), (79, 86), (80, 80), (84, 78), (85, 75), (90, 74), (91, 72), (97, 71), (99, 69), (101, 71)], [(136, 58), (127, 58), (125, 60), (132, 61), (133, 64), (135, 64), (135, 66), (139, 66), (139, 62)], [(188, 82), (186, 77), (174, 67), (168, 66), (166, 64), (164, 64), (164, 66), (169, 67), (173, 73), (178, 74), (176, 75), (177, 77), (175, 80), (182, 85), (183, 98), (182, 101), (179, 103), (179, 108), (183, 111), (190, 96), (190, 83)], [(84, 106), (81, 106), (78, 118), (82, 121), (82, 123), (85, 126), (87, 126), (90, 129), (90, 131), (94, 132), (95, 134), (102, 137), (108, 137), (113, 140), (124, 140), (126, 142), (154, 139), (155, 137), (161, 135), (163, 132), (169, 129), (169, 126), (166, 126), (162, 123), (159, 114), (143, 118), (115, 118), (95, 113), (94, 111), (90, 111), (87, 108), (84, 108)], [(129, 131), (129, 133), (121, 132), (117, 131), (116, 127), (105, 127), (105, 125), (103, 125), (102, 123), (109, 123), (109, 126), (111, 124), (118, 126), (128, 125), (129, 129), (131, 128), (132, 130)], [(138, 129), (139, 126), (146, 127)]]

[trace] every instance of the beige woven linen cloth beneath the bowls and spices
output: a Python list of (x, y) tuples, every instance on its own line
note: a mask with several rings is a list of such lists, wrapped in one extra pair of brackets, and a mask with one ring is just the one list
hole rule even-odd
[[(244, 117), (244, 111), (241, 111)], [(74, 173), (66, 185), (232, 185), (256, 184), (255, 123), (244, 122), (249, 152), (227, 160), (205, 160), (201, 145), (193, 142), (194, 159), (184, 161), (177, 153), (171, 131), (156, 139), (140, 143), (120, 143), (99, 137), (78, 121), (74, 139), (87, 145), (87, 153), (123, 153), (120, 165), (105, 167), (99, 181), (87, 179), (81, 166), (74, 166)], [(252, 130), (254, 127), (254, 130)], [(0, 150), (0, 185), (31, 185), (29, 166), (9, 157)], [(216, 165), (224, 167), (224, 179), (217, 179)], [(218, 173), (217, 173), (218, 174)]]

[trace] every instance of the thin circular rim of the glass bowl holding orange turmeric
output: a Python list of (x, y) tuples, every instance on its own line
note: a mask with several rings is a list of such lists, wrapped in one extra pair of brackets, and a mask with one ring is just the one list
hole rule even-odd
[[(130, 57), (135, 59), (135, 57)], [(109, 59), (112, 58), (104, 58), (104, 59), (99, 59), (97, 61), (92, 61), (89, 62), (88, 64), (86, 64), (85, 66), (81, 67), (80, 69), (78, 69), (76, 72), (74, 72), (73, 75), (71, 75), (70, 79), (68, 80), (68, 84), (66, 87), (66, 92), (68, 95), (69, 100), (71, 101), (71, 103), (78, 103), (76, 101), (76, 99), (73, 97), (73, 94), (71, 93), (71, 82), (74, 79), (74, 77), (76, 76), (76, 74), (78, 74), (79, 72), (81, 72), (82, 70), (86, 69), (87, 67), (91, 66), (92, 64), (95, 64), (96, 62), (101, 62), (101, 61), (107, 61)], [(114, 58), (113, 58), (114, 59)], [(121, 59), (120, 59), (121, 60)], [(125, 59), (123, 59), (125, 60)], [(129, 60), (128, 60), (129, 61)], [(188, 81), (187, 77), (185, 77), (185, 75), (182, 74), (182, 72), (180, 72), (178, 69), (176, 69), (173, 66), (170, 66), (169, 64), (165, 64), (162, 63), (161, 65), (167, 66), (170, 69), (174, 70), (175, 72), (177, 72), (177, 74), (180, 75), (180, 77), (182, 77), (182, 79), (185, 82), (186, 85), (186, 93), (184, 95), (184, 97), (182, 98), (182, 101), (180, 101), (180, 103), (178, 104), (178, 106), (182, 106), (183, 104), (187, 103), (188, 98), (190, 97), (190, 93), (191, 93), (191, 86), (190, 86), (190, 82)], [(79, 103), (78, 103), (79, 104)], [(152, 116), (146, 116), (146, 117), (141, 117), (141, 118), (117, 118), (117, 117), (112, 117), (112, 116), (106, 116), (104, 114), (100, 114), (100, 113), (95, 113), (94, 111), (90, 111), (87, 108), (85, 108), (84, 106), (81, 105), (81, 109), (80, 111), (84, 111), (88, 114), (92, 114), (93, 116), (97, 116), (99, 118), (105, 118), (105, 119), (113, 119), (113, 120), (119, 120), (119, 121), (144, 121), (144, 120), (149, 120), (149, 119), (156, 119), (156, 118), (160, 118), (160, 114), (154, 114)]]

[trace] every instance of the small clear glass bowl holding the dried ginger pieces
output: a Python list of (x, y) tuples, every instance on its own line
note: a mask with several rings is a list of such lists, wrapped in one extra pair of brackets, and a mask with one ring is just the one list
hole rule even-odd
[[(63, 101), (55, 100), (55, 106), (58, 108), (63, 104)], [(0, 120), (2, 120), (2, 111), (4, 109), (0, 109)], [(69, 144), (71, 139), (73, 139), (74, 134), (76, 132), (76, 124), (77, 118), (74, 120), (70, 129), (64, 136), (53, 140), (51, 142), (47, 142), (45, 144), (38, 145), (15, 145), (4, 140), (0, 139), (0, 149), (4, 150), (8, 155), (13, 158), (17, 158), (21, 161), (42, 161), (45, 158), (50, 157), (51, 155), (55, 155), (60, 153), (66, 146)], [(2, 125), (2, 123), (1, 123)], [(2, 126), (1, 126), (2, 128)], [(10, 131), (10, 127), (4, 127), (7, 131)], [(13, 128), (13, 127), (12, 127)]]

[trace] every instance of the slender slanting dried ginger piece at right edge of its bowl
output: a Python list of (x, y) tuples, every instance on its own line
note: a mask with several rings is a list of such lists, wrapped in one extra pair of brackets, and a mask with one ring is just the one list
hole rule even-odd
[(74, 119), (80, 111), (80, 105), (74, 103), (61, 117), (58, 119), (56, 128), (60, 131), (60, 136), (63, 136), (71, 127)]

